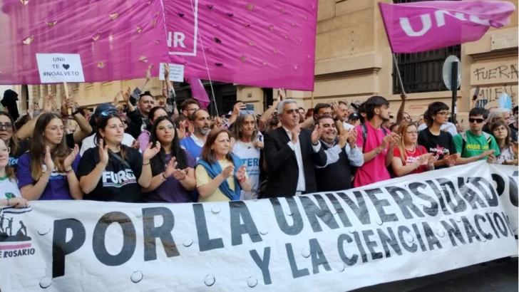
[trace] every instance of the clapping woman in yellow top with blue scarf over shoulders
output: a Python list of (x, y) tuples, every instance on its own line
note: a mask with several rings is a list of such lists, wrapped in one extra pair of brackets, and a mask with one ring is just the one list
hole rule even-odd
[(251, 189), (245, 165), (230, 152), (230, 133), (225, 129), (212, 130), (207, 135), (195, 173), (198, 202), (237, 201), (242, 189)]

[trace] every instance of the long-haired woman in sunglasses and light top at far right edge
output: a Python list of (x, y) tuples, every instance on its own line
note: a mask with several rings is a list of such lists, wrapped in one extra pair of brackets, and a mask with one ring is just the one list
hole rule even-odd
[(498, 165), (518, 165), (517, 157), (517, 145), (512, 142), (512, 130), (507, 122), (504, 120), (498, 120), (490, 126), (490, 132), (495, 138), (495, 142), (498, 143), (500, 155), (495, 160), (495, 164)]

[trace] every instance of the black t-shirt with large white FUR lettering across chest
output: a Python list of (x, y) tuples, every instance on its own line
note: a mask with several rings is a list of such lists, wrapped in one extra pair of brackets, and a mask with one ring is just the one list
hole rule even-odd
[[(126, 150), (124, 160), (126, 163), (109, 155), (108, 165), (96, 188), (90, 194), (85, 194), (84, 199), (103, 202), (143, 202), (138, 184), (140, 173), (143, 170), (143, 156), (138, 150), (124, 145), (122, 147), (125, 147)], [(81, 179), (90, 174), (99, 161), (99, 147), (86, 150), (79, 162), (78, 177)]]

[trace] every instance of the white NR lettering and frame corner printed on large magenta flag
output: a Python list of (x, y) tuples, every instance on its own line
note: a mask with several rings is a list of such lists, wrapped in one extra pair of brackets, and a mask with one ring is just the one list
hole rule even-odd
[(187, 11), (173, 11), (172, 15), (178, 15), (185, 27), (190, 31), (168, 31), (168, 48), (170, 55), (197, 56), (198, 38), (198, 0), (191, 1)]

